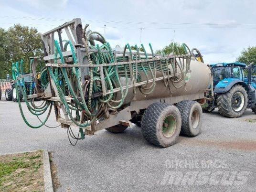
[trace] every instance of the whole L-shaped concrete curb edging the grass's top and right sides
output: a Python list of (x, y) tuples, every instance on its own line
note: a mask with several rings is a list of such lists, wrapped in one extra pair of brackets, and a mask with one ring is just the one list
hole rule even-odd
[[(51, 174), (49, 153), (48, 153), (47, 149), (39, 149), (39, 150), (43, 150), (44, 191), (45, 192), (53, 192), (53, 180), (52, 180), (52, 174)], [(14, 153), (3, 153), (0, 155), (20, 154), (20, 153), (35, 152), (35, 151), (38, 151), (38, 150), (21, 151), (21, 152), (14, 152)]]

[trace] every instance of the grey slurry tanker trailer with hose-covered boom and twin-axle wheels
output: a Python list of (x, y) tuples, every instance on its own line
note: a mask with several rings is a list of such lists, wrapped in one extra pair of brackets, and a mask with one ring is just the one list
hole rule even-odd
[[(193, 54), (197, 49), (182, 44), (186, 54), (176, 47), (164, 55), (155, 54), (150, 43), (150, 53), (143, 44), (135, 46), (137, 50), (129, 44), (112, 48), (99, 32), (87, 28), (81, 19), (74, 19), (42, 34), (44, 56), (31, 58), (30, 94), (19, 86), (24, 81), (23, 62), (13, 64), (16, 89), (22, 89), (29, 111), (40, 120), (40, 125), (31, 125), (18, 98), (29, 127), (45, 125), (54, 109), (56, 121), (76, 141), (102, 129), (120, 133), (132, 123), (160, 147), (174, 144), (180, 133), (191, 137), (200, 133), (200, 104), (205, 103), (212, 76), (201, 54), (196, 54), (200, 59)], [(45, 67), (36, 71), (42, 60)]]

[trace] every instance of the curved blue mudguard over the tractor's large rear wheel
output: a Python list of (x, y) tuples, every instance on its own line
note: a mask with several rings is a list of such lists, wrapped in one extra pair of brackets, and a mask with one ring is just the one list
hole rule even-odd
[(245, 87), (245, 90), (248, 91), (248, 85), (245, 82), (241, 81), (240, 79), (235, 78), (225, 78), (220, 81), (214, 88), (213, 92), (216, 94), (226, 93), (228, 92), (231, 87), (235, 84), (240, 84)]

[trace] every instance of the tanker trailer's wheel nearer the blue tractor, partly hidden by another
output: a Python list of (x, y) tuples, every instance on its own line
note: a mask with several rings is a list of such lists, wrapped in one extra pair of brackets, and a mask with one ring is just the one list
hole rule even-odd
[(176, 104), (181, 112), (181, 135), (195, 137), (201, 132), (203, 111), (196, 101), (184, 100)]

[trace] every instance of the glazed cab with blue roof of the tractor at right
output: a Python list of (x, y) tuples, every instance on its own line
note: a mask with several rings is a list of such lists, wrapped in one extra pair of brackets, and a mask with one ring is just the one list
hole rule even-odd
[[(210, 64), (213, 73), (213, 86), (220, 84), (222, 87), (229, 84), (234, 79), (245, 81), (244, 68), (246, 64), (235, 63), (222, 63)], [(224, 85), (222, 85), (224, 84)]]

